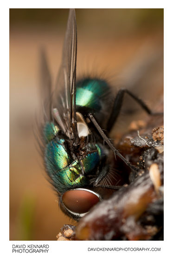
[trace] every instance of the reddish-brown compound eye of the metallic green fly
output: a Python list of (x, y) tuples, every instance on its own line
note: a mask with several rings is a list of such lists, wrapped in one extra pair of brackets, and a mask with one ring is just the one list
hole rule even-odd
[(62, 202), (65, 208), (72, 213), (83, 214), (100, 201), (98, 194), (91, 190), (69, 190), (63, 194)]

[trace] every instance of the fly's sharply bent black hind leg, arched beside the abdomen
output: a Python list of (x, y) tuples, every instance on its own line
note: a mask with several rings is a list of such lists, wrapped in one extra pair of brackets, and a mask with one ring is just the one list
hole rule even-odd
[(137, 96), (135, 96), (132, 92), (128, 91), (127, 89), (121, 89), (118, 91), (115, 101), (114, 101), (114, 105), (112, 108), (112, 113), (110, 115), (110, 118), (108, 120), (107, 123), (107, 131), (109, 132), (113, 125), (115, 124), (115, 121), (121, 111), (122, 108), (122, 102), (123, 102), (123, 98), (124, 98), (124, 93), (127, 93), (129, 96), (131, 96), (133, 99), (135, 99), (135, 101), (141, 105), (141, 107), (149, 114), (149, 115), (158, 115), (158, 114), (163, 114), (163, 113), (154, 113), (152, 112), (147, 105)]

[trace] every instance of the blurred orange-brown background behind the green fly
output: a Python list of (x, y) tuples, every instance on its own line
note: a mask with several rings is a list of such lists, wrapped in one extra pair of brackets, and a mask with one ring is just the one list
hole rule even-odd
[[(64, 223), (75, 224), (59, 210), (33, 135), (39, 49), (55, 81), (68, 12), (10, 9), (10, 240), (56, 240)], [(113, 86), (131, 88), (154, 108), (163, 94), (163, 9), (76, 9), (76, 17), (77, 74), (105, 72)], [(128, 127), (121, 120), (116, 127), (122, 124)]]

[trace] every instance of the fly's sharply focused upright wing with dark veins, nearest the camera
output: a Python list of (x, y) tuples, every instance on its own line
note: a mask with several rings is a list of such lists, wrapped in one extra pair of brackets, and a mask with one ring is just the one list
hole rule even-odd
[[(65, 33), (62, 63), (58, 72), (53, 99), (53, 115), (60, 128), (78, 144), (76, 117), (76, 65), (77, 65), (77, 25), (75, 10), (70, 9)], [(58, 88), (64, 88), (59, 95)], [(72, 132), (70, 132), (70, 130)], [(72, 136), (71, 136), (72, 135)]]

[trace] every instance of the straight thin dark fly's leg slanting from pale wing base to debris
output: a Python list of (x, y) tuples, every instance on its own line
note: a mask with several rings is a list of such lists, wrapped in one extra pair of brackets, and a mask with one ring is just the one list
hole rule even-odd
[(102, 136), (102, 138), (105, 140), (105, 142), (109, 145), (109, 147), (111, 148), (111, 150), (115, 153), (115, 155), (119, 156), (124, 163), (126, 163), (133, 171), (137, 171), (138, 168), (135, 167), (133, 164), (130, 164), (130, 162), (128, 162), (126, 160), (126, 158), (124, 158), (122, 156), (122, 154), (120, 154), (120, 152), (115, 149), (115, 146), (110, 142), (109, 138), (106, 136), (106, 134), (103, 132), (103, 130), (101, 129), (100, 125), (98, 125), (96, 119), (94, 118), (92, 113), (88, 114), (88, 117), (90, 118), (90, 121), (93, 123), (93, 125), (96, 127), (97, 131), (100, 133), (100, 135)]

